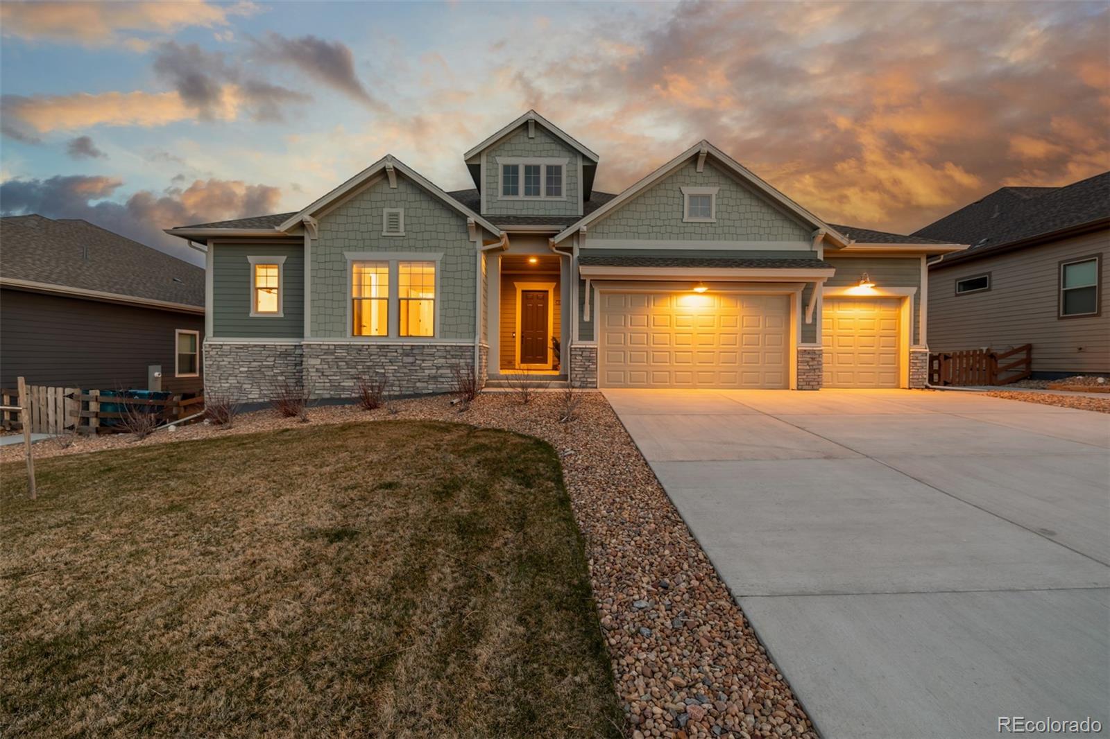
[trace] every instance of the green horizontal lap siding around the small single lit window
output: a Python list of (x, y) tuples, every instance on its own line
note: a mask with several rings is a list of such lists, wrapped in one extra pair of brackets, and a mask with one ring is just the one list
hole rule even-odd
[[(212, 335), (235, 338), (301, 338), (304, 335), (304, 246), (216, 244), (212, 252)], [(281, 317), (251, 316), (248, 256), (284, 256)]]

